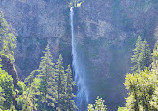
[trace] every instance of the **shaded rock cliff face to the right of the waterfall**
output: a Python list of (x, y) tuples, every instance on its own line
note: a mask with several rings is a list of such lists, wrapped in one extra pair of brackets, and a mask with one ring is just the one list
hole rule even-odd
[(153, 47), (157, 11), (157, 2), (150, 0), (85, 0), (76, 9), (76, 37), (91, 100), (104, 97), (112, 111), (123, 106), (132, 50), (139, 35)]

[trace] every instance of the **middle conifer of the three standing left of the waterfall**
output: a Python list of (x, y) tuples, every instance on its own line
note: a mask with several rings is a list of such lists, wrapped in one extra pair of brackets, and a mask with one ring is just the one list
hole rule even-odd
[(66, 95), (66, 74), (63, 67), (63, 58), (59, 55), (59, 59), (55, 65), (56, 82), (57, 82), (57, 110), (64, 110), (65, 95)]

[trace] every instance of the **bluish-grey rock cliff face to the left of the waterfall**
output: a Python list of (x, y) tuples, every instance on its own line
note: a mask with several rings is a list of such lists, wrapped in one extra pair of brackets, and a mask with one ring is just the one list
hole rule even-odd
[[(0, 10), (18, 34), (15, 64), (20, 78), (37, 69), (47, 43), (51, 43), (55, 58), (63, 50), (71, 49), (71, 37), (66, 27), (69, 9), (66, 6), (63, 0), (0, 1)], [(71, 59), (71, 50), (66, 53), (67, 59)], [(71, 63), (71, 60), (67, 61)]]

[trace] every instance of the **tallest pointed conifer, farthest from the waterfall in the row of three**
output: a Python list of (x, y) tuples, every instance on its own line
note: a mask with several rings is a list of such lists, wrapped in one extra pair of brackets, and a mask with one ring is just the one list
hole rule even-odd
[(38, 69), (38, 77), (40, 78), (39, 101), (42, 103), (40, 105), (42, 106), (41, 108), (44, 108), (44, 110), (46, 110), (46, 105), (54, 107), (55, 102), (56, 86), (53, 68), (54, 63), (52, 63), (52, 59), (49, 45), (47, 45)]

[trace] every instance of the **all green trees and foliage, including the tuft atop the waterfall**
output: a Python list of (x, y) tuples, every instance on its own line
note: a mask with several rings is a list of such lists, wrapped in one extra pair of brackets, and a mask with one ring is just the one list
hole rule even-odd
[[(80, 7), (83, 1), (76, 0), (70, 6)], [(48, 44), (39, 68), (33, 70), (24, 81), (13, 77), (0, 64), (0, 110), (22, 111), (74, 111), (73, 75), (71, 66), (65, 69), (63, 58), (59, 55), (53, 60)], [(0, 13), (0, 58), (7, 57), (14, 63), (16, 37), (4, 15)], [(153, 53), (152, 53), (153, 52)], [(146, 40), (138, 37), (131, 57), (132, 73), (126, 74), (125, 87), (128, 91), (125, 107), (118, 111), (157, 111), (158, 110), (158, 42), (153, 51)], [(14, 67), (13, 67), (14, 68)], [(10, 70), (10, 69), (9, 69)], [(16, 82), (14, 83), (16, 79)], [(88, 104), (88, 111), (107, 111), (102, 98), (97, 97), (95, 104)]]

